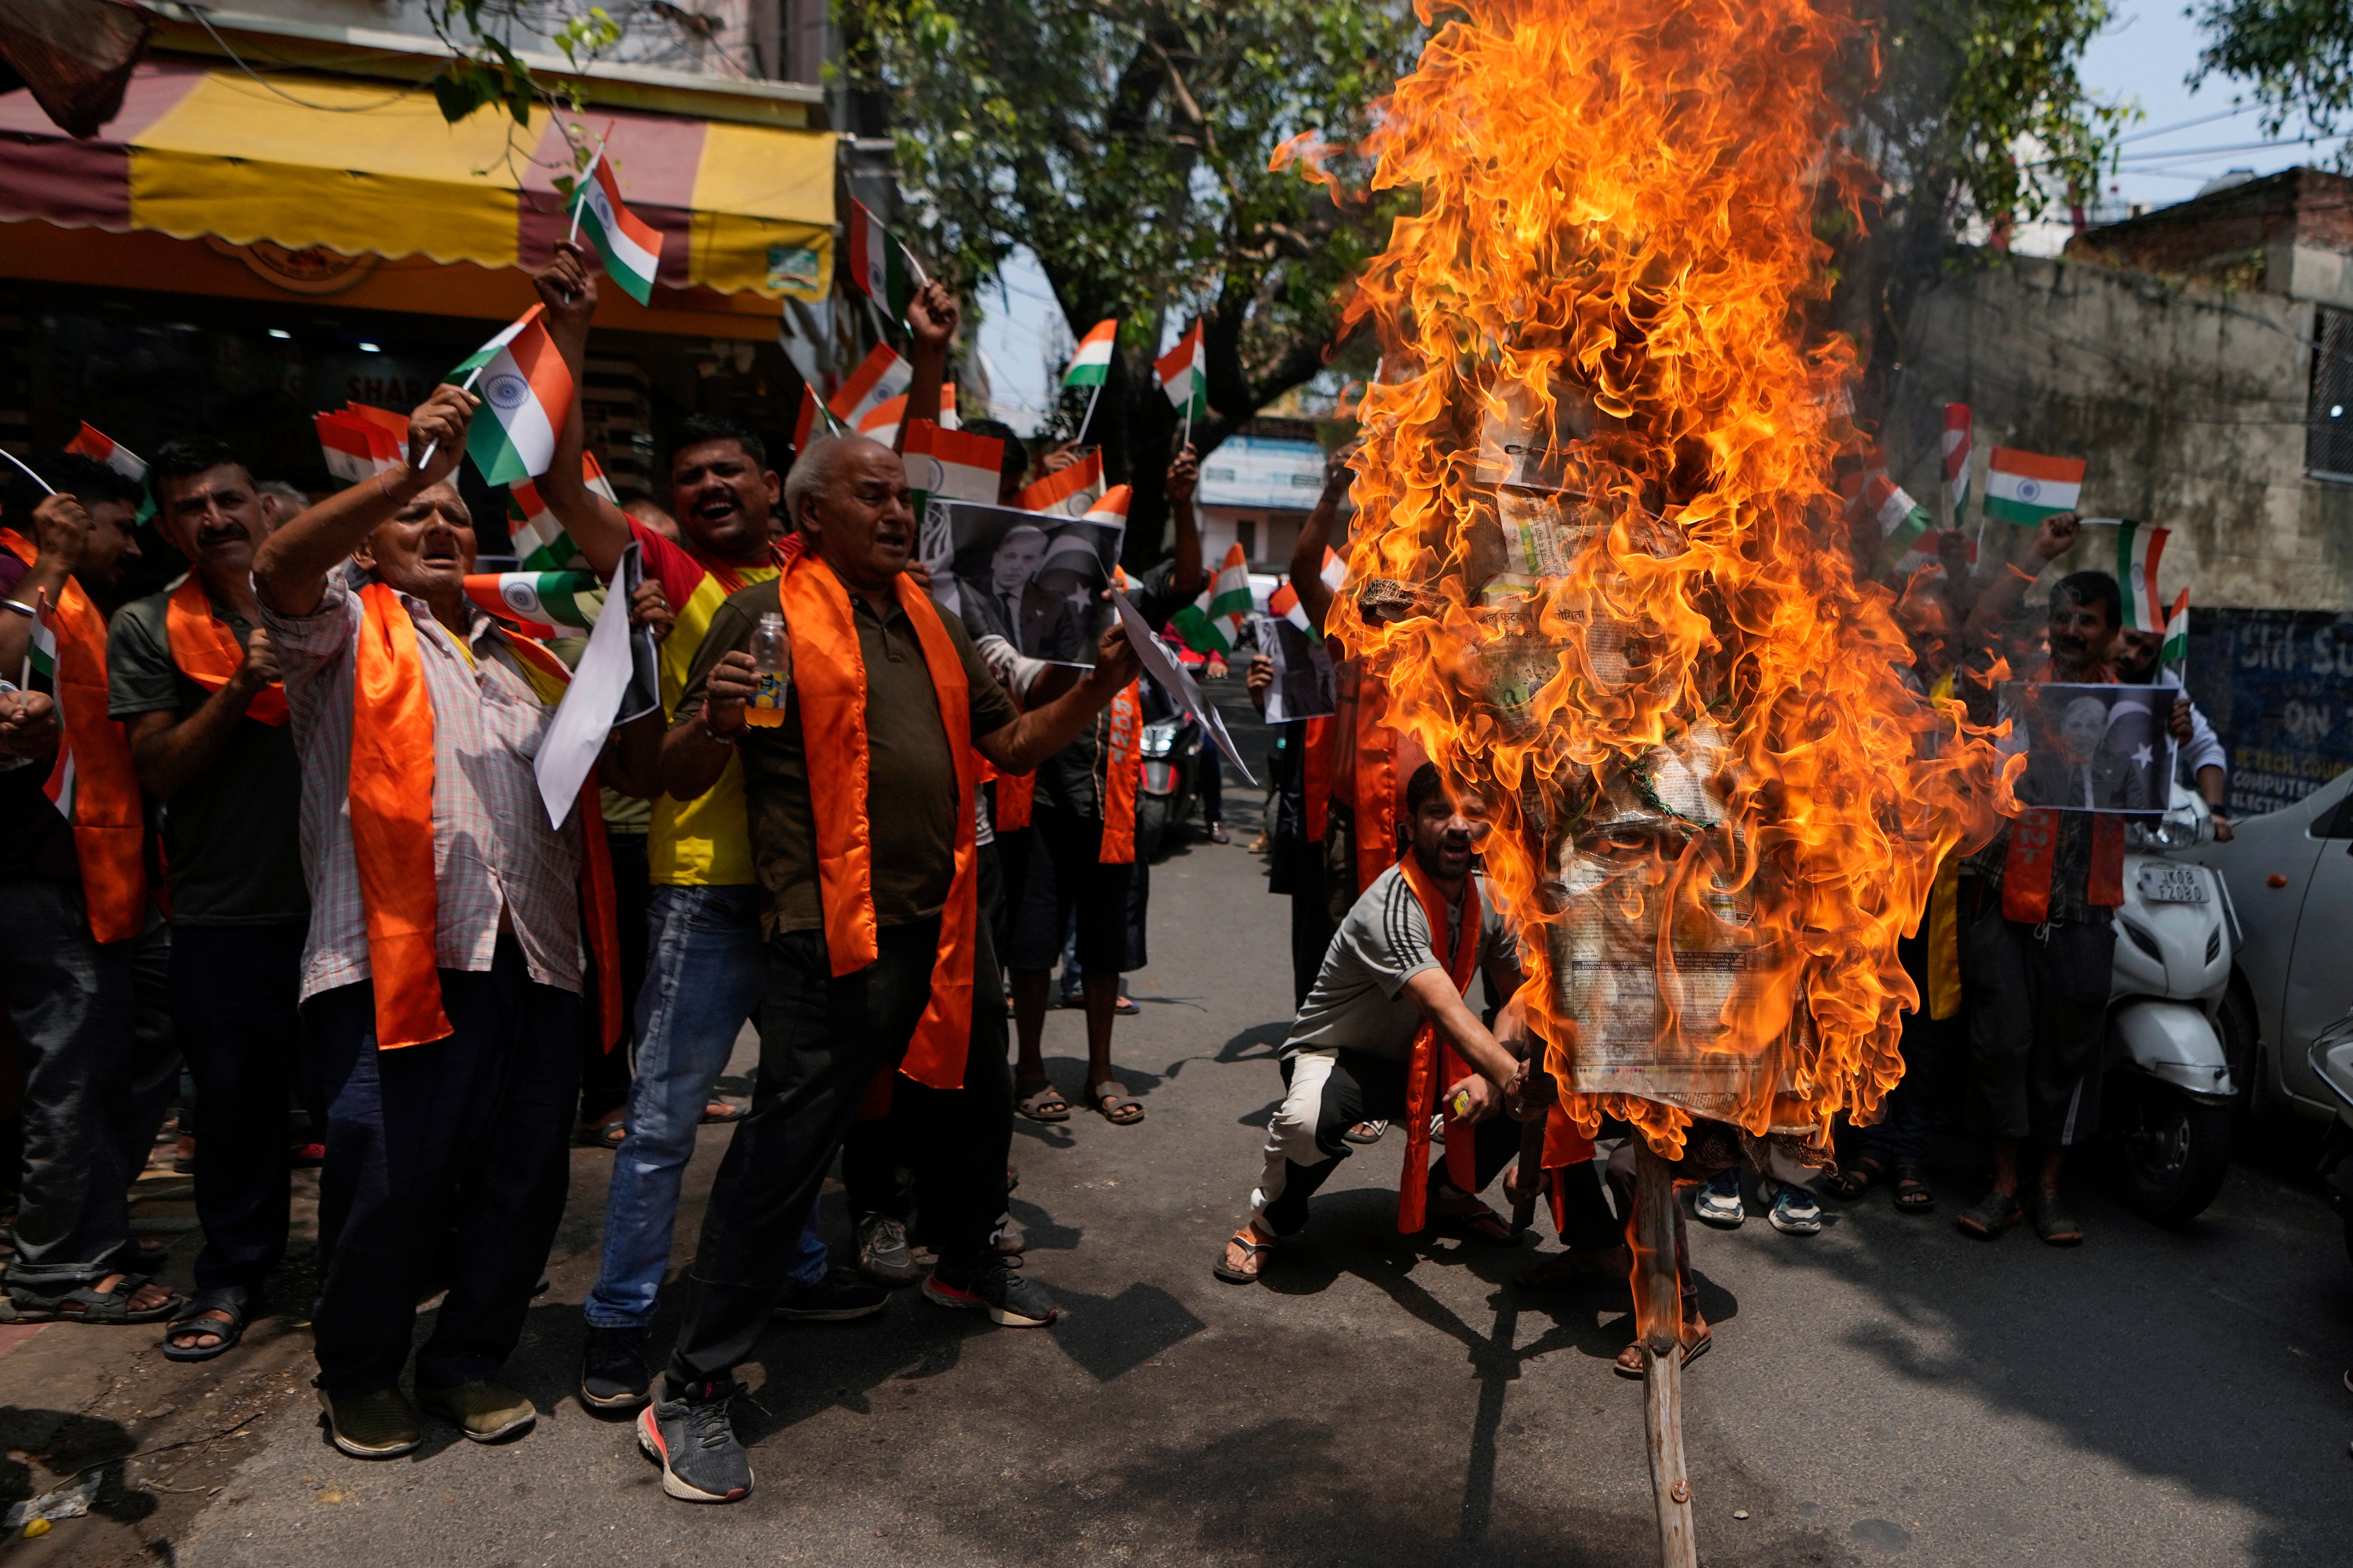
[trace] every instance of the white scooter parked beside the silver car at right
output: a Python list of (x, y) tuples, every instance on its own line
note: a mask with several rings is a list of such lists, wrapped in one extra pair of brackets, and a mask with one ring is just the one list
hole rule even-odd
[(2221, 1192), (2238, 1086), (2217, 1011), (2238, 952), (2224, 879), (2179, 860), (2214, 837), (2214, 816), (2174, 785), (2169, 809), (2125, 830), (2125, 905), (2115, 912), (2101, 1131), (2120, 1197), (2160, 1225), (2184, 1225)]

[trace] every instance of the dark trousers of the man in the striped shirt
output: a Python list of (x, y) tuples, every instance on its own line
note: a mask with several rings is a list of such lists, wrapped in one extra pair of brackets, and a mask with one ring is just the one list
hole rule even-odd
[(336, 1399), (400, 1382), (416, 1302), (447, 1281), (416, 1387), (496, 1378), (565, 1215), (581, 999), (536, 985), (499, 938), (487, 973), (440, 971), (452, 1034), (376, 1048), (376, 987), (304, 1006), (320, 1168), (320, 1387)]

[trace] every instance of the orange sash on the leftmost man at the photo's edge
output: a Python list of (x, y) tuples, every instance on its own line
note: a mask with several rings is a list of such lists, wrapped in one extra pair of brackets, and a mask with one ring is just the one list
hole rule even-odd
[[(24, 534), (0, 529), (0, 548), (31, 567), (40, 559)], [(73, 853), (82, 867), (82, 905), (89, 936), (122, 943), (146, 929), (146, 813), (132, 743), (118, 719), (106, 717), (106, 616), (71, 576), (49, 607), (56, 632), (56, 717), (66, 738), (49, 776), (52, 797), (61, 773), (73, 778)]]

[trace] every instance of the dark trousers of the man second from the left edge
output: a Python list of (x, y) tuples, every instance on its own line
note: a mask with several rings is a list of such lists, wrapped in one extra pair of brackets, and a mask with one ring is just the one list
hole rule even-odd
[(195, 1077), (195, 1288), (259, 1293), (287, 1251), (287, 1084), (301, 1072), (308, 922), (174, 926), (172, 1030)]

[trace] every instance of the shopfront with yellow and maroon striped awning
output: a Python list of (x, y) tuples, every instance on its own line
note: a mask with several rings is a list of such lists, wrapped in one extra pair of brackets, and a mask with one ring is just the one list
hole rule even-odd
[[(779, 451), (791, 437), (779, 315), (831, 289), (838, 139), (776, 125), (779, 92), (746, 101), (753, 122), (713, 115), (715, 89), (696, 94), (706, 118), (579, 118), (664, 235), (652, 303), (616, 287), (598, 303), (584, 407), (621, 489), (656, 489), (685, 414), (741, 418)], [(94, 141), (5, 94), (0, 442), (54, 451), (80, 421), (132, 451), (214, 435), (256, 477), (320, 489), (311, 414), (407, 409), (532, 303), (569, 167), (548, 115), (447, 125), (431, 92), (384, 80), (160, 54)], [(482, 548), (501, 534), (482, 527)]]

